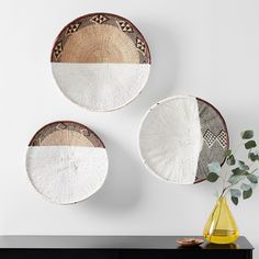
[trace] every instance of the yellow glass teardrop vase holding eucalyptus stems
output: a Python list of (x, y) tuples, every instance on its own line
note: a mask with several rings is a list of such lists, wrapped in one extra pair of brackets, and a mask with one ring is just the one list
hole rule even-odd
[(230, 244), (238, 238), (239, 230), (225, 196), (218, 198), (206, 222), (203, 236), (214, 244)]

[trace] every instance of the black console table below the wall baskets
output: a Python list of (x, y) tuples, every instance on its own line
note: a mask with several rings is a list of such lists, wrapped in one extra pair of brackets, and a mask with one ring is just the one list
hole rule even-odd
[(245, 237), (235, 244), (183, 248), (176, 236), (0, 236), (1, 259), (251, 259)]

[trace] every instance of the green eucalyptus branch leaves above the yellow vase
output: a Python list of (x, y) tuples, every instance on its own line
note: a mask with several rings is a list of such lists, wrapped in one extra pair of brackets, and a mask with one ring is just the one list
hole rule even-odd
[[(230, 198), (234, 204), (238, 204), (239, 198), (248, 199), (252, 194), (252, 189), (258, 183), (258, 176), (255, 172), (258, 170), (259, 155), (252, 131), (245, 131), (241, 134), (241, 140), (234, 151), (225, 151), (225, 164), (221, 166), (219, 162), (209, 164), (207, 181), (216, 182), (218, 178), (222, 180), (222, 191), (219, 199), (226, 196), (230, 192)], [(239, 148), (244, 146), (247, 150), (245, 160), (236, 159), (236, 154)], [(256, 166), (255, 169), (251, 167)], [(229, 183), (229, 184), (227, 184)]]

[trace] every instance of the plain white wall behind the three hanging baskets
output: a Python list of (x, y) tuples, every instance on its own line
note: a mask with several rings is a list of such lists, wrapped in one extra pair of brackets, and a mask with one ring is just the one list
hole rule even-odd
[[(49, 56), (59, 30), (89, 12), (121, 14), (146, 36), (153, 67), (128, 106), (91, 113), (54, 82)], [(232, 144), (246, 127), (259, 138), (259, 1), (8, 0), (0, 3), (0, 234), (196, 235), (214, 205), (214, 185), (170, 185), (140, 162), (137, 132), (145, 111), (173, 94), (193, 94), (225, 116)], [(26, 180), (32, 135), (55, 120), (75, 120), (105, 142), (104, 187), (77, 205), (44, 201)], [(259, 248), (259, 190), (232, 206), (241, 234)], [(257, 255), (259, 255), (257, 252)]]

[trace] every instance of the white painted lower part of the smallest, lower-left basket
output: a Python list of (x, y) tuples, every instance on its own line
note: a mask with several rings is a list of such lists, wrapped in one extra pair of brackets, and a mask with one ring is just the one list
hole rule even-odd
[(32, 146), (26, 169), (33, 187), (54, 203), (82, 201), (103, 184), (108, 171), (104, 148)]

